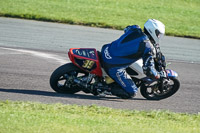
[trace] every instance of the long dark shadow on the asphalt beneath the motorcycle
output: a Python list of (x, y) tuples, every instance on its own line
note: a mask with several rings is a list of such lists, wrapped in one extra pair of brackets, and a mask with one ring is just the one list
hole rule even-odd
[[(98, 96), (84, 95), (84, 94), (60, 94), (60, 93), (56, 93), (56, 92), (40, 91), (40, 90), (22, 90), (22, 89), (2, 89), (2, 88), (0, 88), (0, 92), (19, 93), (19, 94), (26, 94), (26, 95), (50, 96), (50, 97), (62, 97), (62, 98), (66, 97), (66, 98), (77, 98), (77, 99), (123, 102), (123, 100), (118, 97), (98, 97)], [(133, 98), (133, 99), (128, 99), (128, 100), (146, 100), (146, 99)]]

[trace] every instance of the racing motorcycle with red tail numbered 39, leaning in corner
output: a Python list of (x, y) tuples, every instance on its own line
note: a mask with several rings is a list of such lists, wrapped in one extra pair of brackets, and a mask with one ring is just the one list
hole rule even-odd
[[(156, 51), (155, 68), (160, 73), (160, 79), (151, 79), (144, 74), (142, 59), (126, 69), (136, 86), (140, 88), (141, 95), (148, 100), (168, 98), (180, 87), (178, 74), (166, 69), (165, 56), (159, 49)], [(71, 63), (58, 67), (50, 77), (50, 86), (54, 91), (65, 94), (83, 91), (99, 96), (115, 95), (127, 98), (120, 94), (112, 94), (111, 90), (119, 89), (120, 86), (104, 71), (99, 51), (94, 48), (70, 48), (68, 56)]]

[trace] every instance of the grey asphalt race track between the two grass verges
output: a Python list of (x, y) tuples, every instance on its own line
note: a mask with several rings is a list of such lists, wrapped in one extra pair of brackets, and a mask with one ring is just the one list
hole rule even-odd
[(145, 100), (140, 93), (123, 100), (98, 98), (82, 92), (55, 93), (49, 87), (51, 73), (68, 62), (70, 47), (101, 48), (122, 31), (0, 17), (0, 100), (36, 101), (107, 106), (120, 109), (200, 112), (200, 40), (165, 37), (162, 51), (179, 74), (180, 90), (161, 101)]

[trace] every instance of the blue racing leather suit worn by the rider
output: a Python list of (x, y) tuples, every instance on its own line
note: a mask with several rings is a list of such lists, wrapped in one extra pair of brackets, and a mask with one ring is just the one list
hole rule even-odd
[(127, 93), (134, 94), (138, 88), (127, 74), (126, 68), (138, 59), (143, 59), (143, 70), (147, 76), (157, 77), (154, 68), (153, 50), (149, 38), (137, 26), (128, 26), (117, 40), (101, 49), (104, 69)]

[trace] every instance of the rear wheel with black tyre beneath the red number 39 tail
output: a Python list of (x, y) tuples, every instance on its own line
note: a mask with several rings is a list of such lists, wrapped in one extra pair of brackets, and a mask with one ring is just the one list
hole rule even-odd
[(68, 63), (58, 67), (50, 77), (51, 88), (58, 92), (64, 94), (74, 94), (81, 90), (81, 88), (71, 82), (78, 75), (86, 75), (86, 72), (80, 70), (73, 63)]

